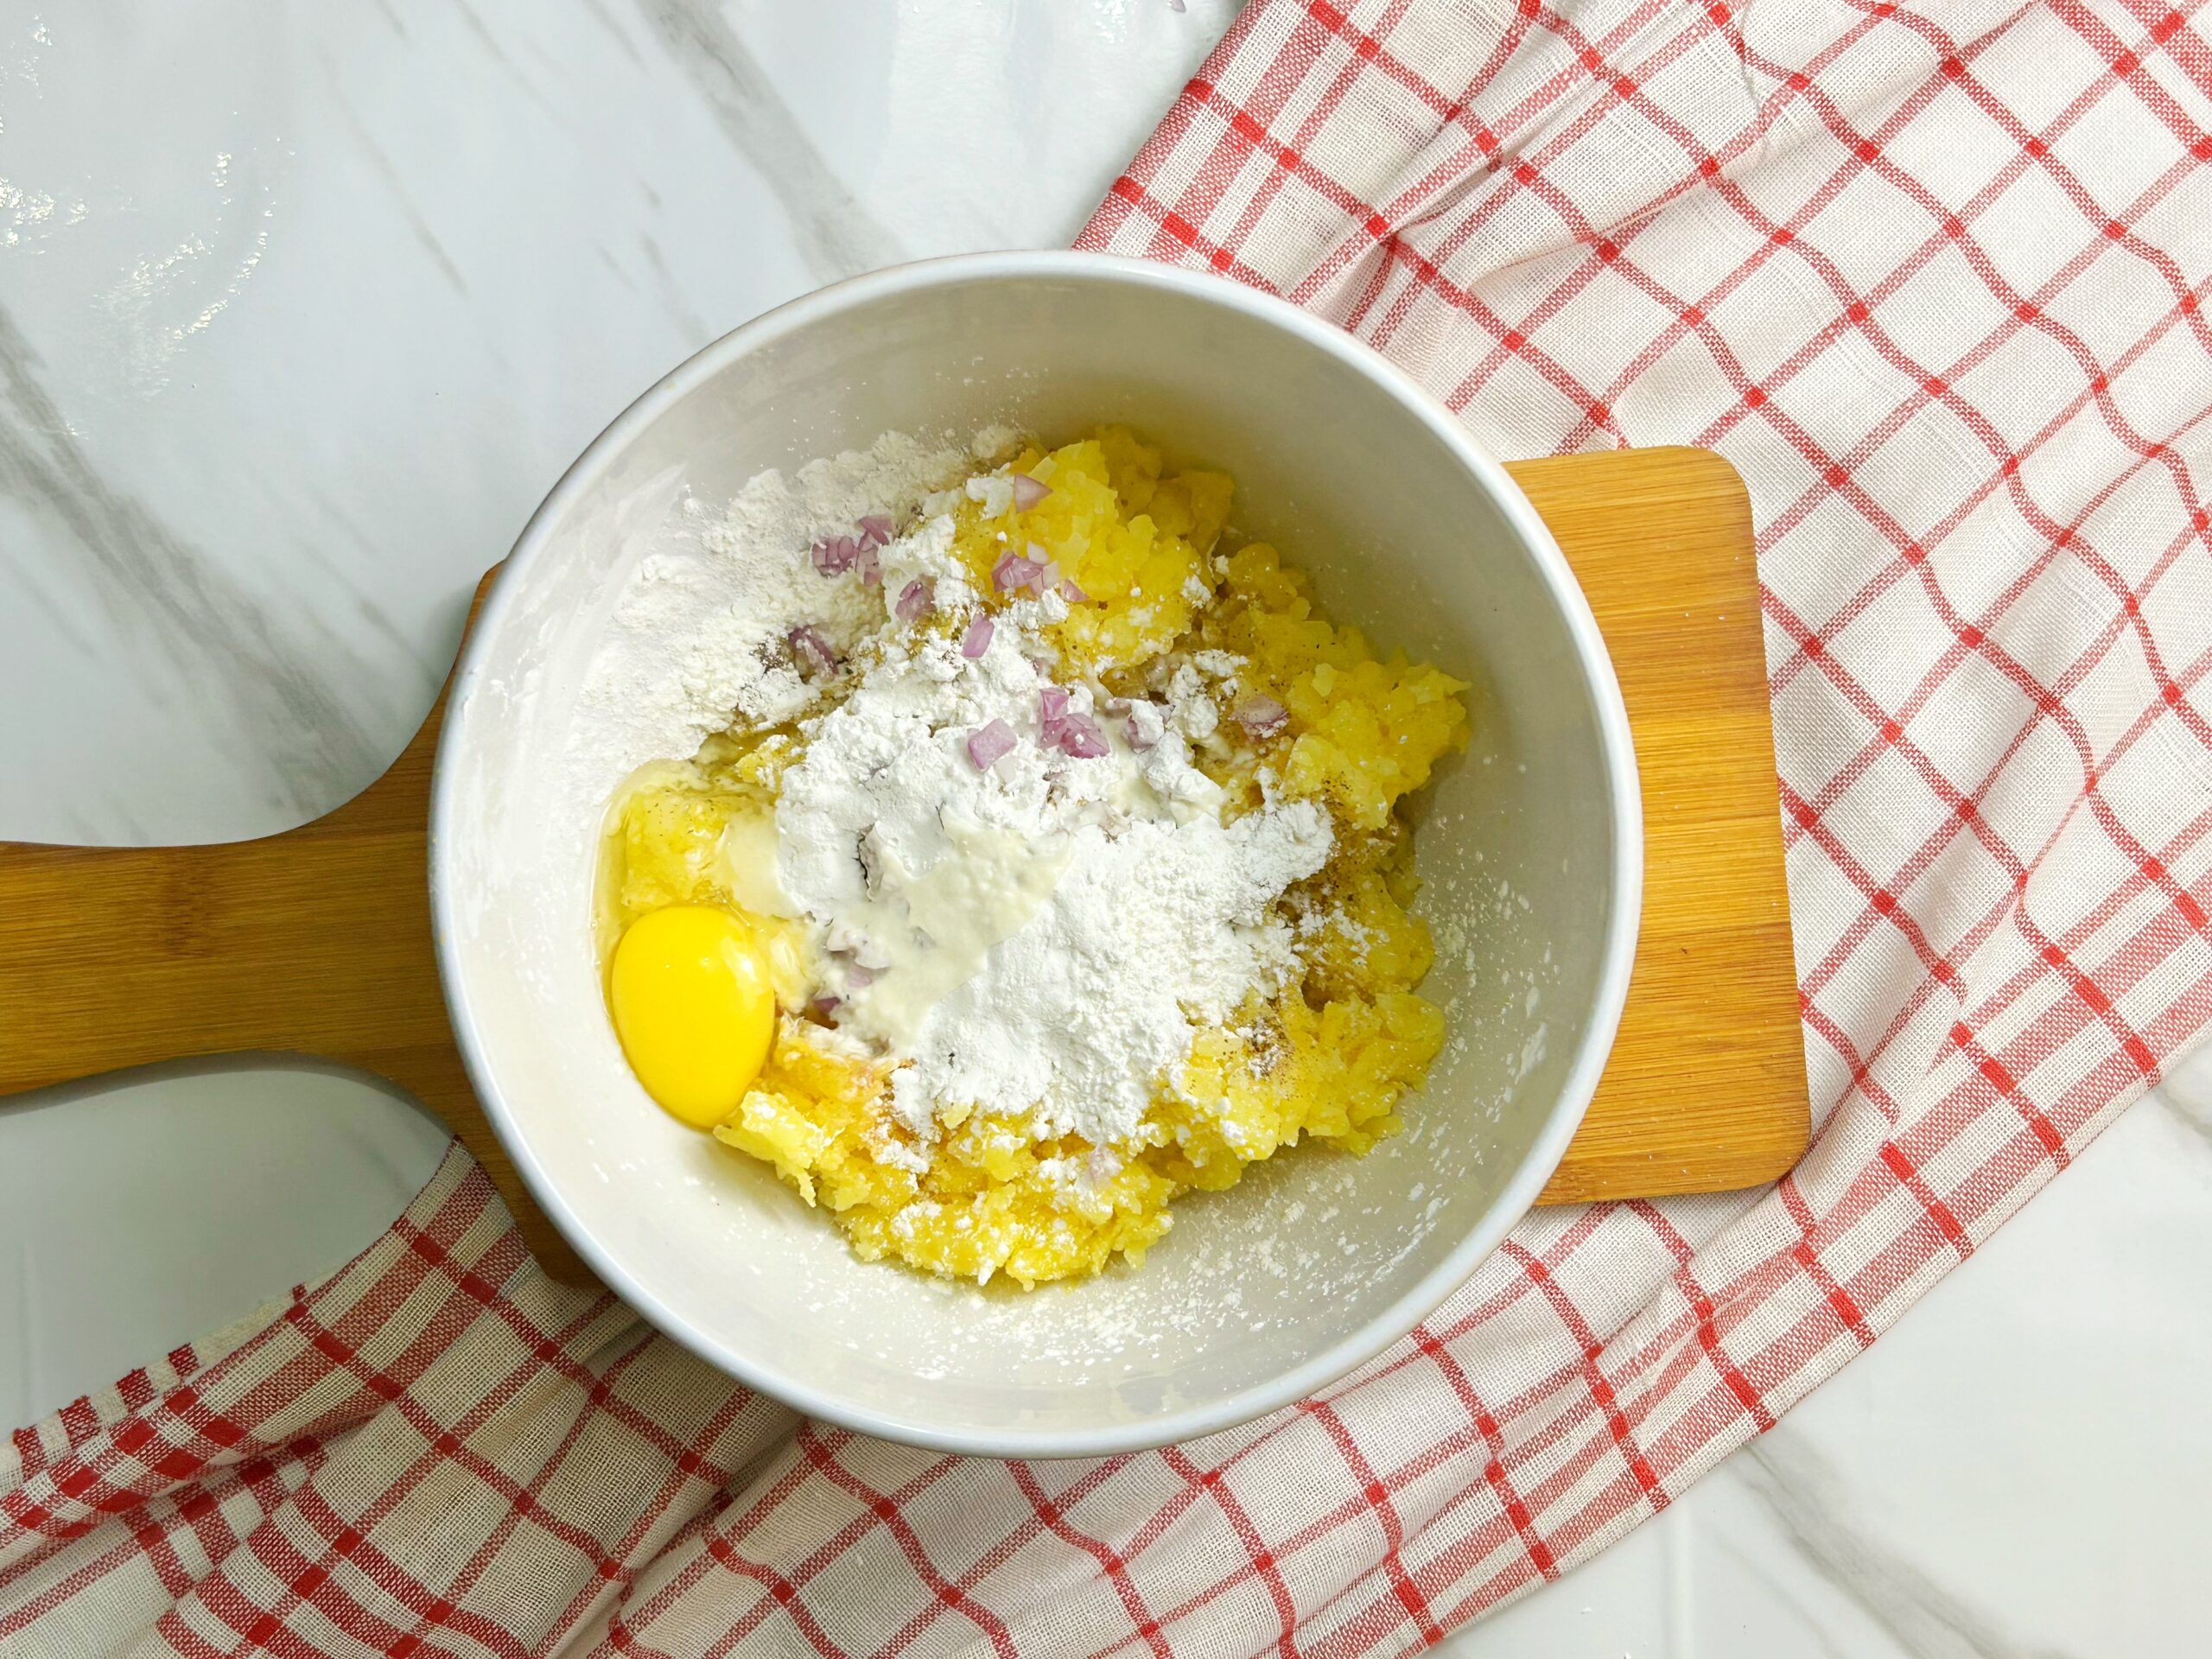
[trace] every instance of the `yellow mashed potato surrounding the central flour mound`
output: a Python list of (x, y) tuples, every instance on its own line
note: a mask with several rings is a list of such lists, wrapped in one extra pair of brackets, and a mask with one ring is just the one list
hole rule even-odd
[[(1223, 473), (1170, 476), (1157, 449), (1115, 427), (1051, 453), (1029, 449), (1013, 471), (1051, 484), (1020, 513), (1015, 544), (1042, 544), (1082, 593), (1048, 630), (1064, 677), (1141, 695), (1168, 664), (1223, 650), (1245, 659), (1243, 695), (1287, 710), (1263, 739), (1223, 719), (1194, 759), (1228, 787), (1232, 814), (1272, 792), (1312, 799), (1332, 818), (1327, 865), (1281, 900), (1303, 978), (1250, 998), (1228, 1026), (1197, 1029), (1124, 1144), (1040, 1144), (1026, 1119), (956, 1110), (925, 1152), (885, 1110), (891, 1064), (841, 1053), (799, 1009), (801, 929), (776, 925), (779, 1037), (714, 1135), (827, 1210), (865, 1259), (1037, 1285), (1117, 1254), (1141, 1261), (1168, 1232), (1177, 1194), (1234, 1186), (1301, 1139), (1365, 1152), (1400, 1128), (1398, 1102), (1420, 1088), (1444, 1018), (1418, 995), (1431, 945), (1409, 909), (1411, 832), (1398, 807), (1464, 748), (1467, 686), (1402, 655), (1376, 657), (1356, 628), (1316, 611), (1307, 580), (1272, 546), (1223, 555)], [(956, 513), (953, 549), (987, 595), (1002, 531), (978, 502)], [(661, 905), (734, 907), (726, 832), (774, 812), (796, 757), (787, 730), (732, 732), (641, 781), (615, 818), (613, 927)]]

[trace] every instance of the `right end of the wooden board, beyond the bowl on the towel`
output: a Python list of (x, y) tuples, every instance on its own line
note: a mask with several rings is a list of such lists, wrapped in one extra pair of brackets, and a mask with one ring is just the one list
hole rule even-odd
[(1705, 449), (1506, 471), (1606, 635), (1644, 783), (1621, 1031), (1544, 1203), (1772, 1181), (1812, 1133), (1752, 504)]

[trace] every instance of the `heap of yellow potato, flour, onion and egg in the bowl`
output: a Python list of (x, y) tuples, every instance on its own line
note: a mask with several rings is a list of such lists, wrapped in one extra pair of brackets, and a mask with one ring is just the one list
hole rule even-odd
[(785, 690), (626, 783), (602, 953), (664, 1106), (865, 1259), (1035, 1285), (1400, 1128), (1444, 1035), (1400, 810), (1467, 688), (1124, 429), (969, 465), (787, 549)]

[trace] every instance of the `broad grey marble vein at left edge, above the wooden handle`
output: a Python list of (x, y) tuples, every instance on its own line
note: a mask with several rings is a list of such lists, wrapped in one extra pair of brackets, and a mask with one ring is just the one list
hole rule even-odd
[(102, 478), (38, 367), (13, 314), (0, 307), (0, 495), (24, 502), (84, 549), (84, 568), (111, 615), (230, 699), (268, 757), (276, 801), (314, 810), (365, 779), (376, 745), (332, 690), (358, 679), (345, 644), (325, 630), (299, 639), (217, 560)]

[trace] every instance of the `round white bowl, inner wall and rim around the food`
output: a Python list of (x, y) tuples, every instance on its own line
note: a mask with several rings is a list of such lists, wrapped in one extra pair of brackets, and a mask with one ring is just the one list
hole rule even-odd
[[(1237, 476), (1237, 524), (1332, 617), (1475, 681), (1478, 739), (1418, 805), (1427, 993), (1451, 1013), (1407, 1133), (1190, 1194), (1141, 1270), (975, 1290), (863, 1265), (774, 1181), (659, 1113), (588, 933), (617, 779), (568, 781), (615, 595), (765, 467), (887, 429), (1126, 420)], [(1402, 1336), (1566, 1148), (1628, 987), (1635, 757), (1582, 591), (1506, 473), (1343, 332), (1228, 281), (1086, 254), (860, 276), (717, 341), (633, 403), (531, 518), (453, 686), (431, 825), (438, 951), (476, 1088), (584, 1259), (701, 1358), (927, 1447), (1097, 1455), (1298, 1400)]]

